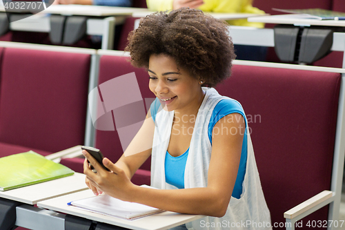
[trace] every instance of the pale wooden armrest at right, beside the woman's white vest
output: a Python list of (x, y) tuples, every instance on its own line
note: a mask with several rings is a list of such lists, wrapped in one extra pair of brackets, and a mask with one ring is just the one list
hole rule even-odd
[[(332, 191), (327, 191), (327, 190), (322, 191), (321, 193), (314, 195), (312, 198), (286, 211), (284, 213), (284, 218), (295, 219), (297, 217), (300, 217), (299, 219), (301, 219), (304, 216), (308, 215), (309, 213), (312, 213), (313, 211), (316, 211), (317, 209), (324, 207), (326, 204), (331, 203), (333, 200), (334, 198), (333, 198)], [(303, 215), (303, 216), (301, 217), (300, 215)]]

